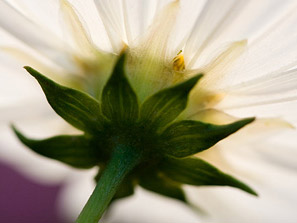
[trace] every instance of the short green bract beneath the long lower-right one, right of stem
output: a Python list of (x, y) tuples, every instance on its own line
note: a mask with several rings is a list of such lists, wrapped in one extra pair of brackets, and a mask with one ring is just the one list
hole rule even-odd
[(141, 176), (139, 185), (163, 196), (187, 202), (180, 183), (174, 182), (156, 172)]

